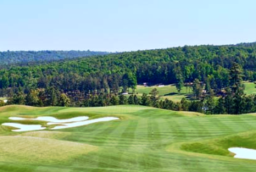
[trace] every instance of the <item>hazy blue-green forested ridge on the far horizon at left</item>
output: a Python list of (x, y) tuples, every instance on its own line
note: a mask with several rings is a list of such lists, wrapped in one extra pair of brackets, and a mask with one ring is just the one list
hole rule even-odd
[(98, 51), (4, 51), (0, 52), (0, 67), (4, 65), (25, 65), (28, 62), (50, 62), (90, 55), (106, 55)]

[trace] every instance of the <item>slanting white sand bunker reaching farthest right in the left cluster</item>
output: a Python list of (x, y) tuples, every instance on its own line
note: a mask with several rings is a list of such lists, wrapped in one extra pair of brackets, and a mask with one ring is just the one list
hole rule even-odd
[[(87, 121), (78, 121), (78, 122), (73, 122), (73, 123), (61, 123), (63, 126), (55, 126), (54, 128), (51, 128), (51, 130), (58, 130), (58, 129), (63, 129), (63, 128), (72, 128), (76, 126), (85, 126), (88, 124), (96, 123), (96, 122), (101, 122), (101, 121), (112, 121), (116, 120), (118, 118), (116, 117), (104, 117), (104, 118), (99, 118), (99, 119), (91, 119)], [(47, 125), (53, 125), (53, 124), (60, 124), (60, 123), (54, 123), (54, 122), (49, 122)]]

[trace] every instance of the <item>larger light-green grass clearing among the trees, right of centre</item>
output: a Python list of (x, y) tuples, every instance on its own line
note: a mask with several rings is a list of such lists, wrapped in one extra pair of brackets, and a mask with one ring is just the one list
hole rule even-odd
[(183, 86), (183, 88), (181, 89), (181, 94), (178, 94), (176, 86), (174, 84), (171, 85), (166, 85), (163, 87), (159, 87), (159, 86), (142, 86), (142, 85), (138, 85), (135, 93), (138, 93), (138, 95), (142, 95), (142, 93), (150, 93), (150, 91), (152, 91), (152, 89), (157, 88), (157, 91), (159, 91), (159, 95), (161, 95), (161, 99), (164, 100), (166, 98), (168, 98), (169, 100), (173, 100), (174, 102), (179, 102), (181, 101), (182, 98), (188, 98), (188, 96), (191, 96), (193, 91), (191, 90), (191, 88), (185, 88), (185, 86)]

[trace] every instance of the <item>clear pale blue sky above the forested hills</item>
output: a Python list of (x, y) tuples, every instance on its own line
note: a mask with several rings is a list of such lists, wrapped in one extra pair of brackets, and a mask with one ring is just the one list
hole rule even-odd
[(0, 51), (256, 41), (255, 0), (0, 0)]

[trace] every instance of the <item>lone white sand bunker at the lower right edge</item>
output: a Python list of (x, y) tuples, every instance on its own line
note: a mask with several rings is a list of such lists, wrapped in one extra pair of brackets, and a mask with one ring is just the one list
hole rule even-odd
[(228, 150), (236, 154), (234, 158), (256, 160), (256, 150), (251, 150), (251, 149), (242, 148), (242, 147), (231, 147)]

